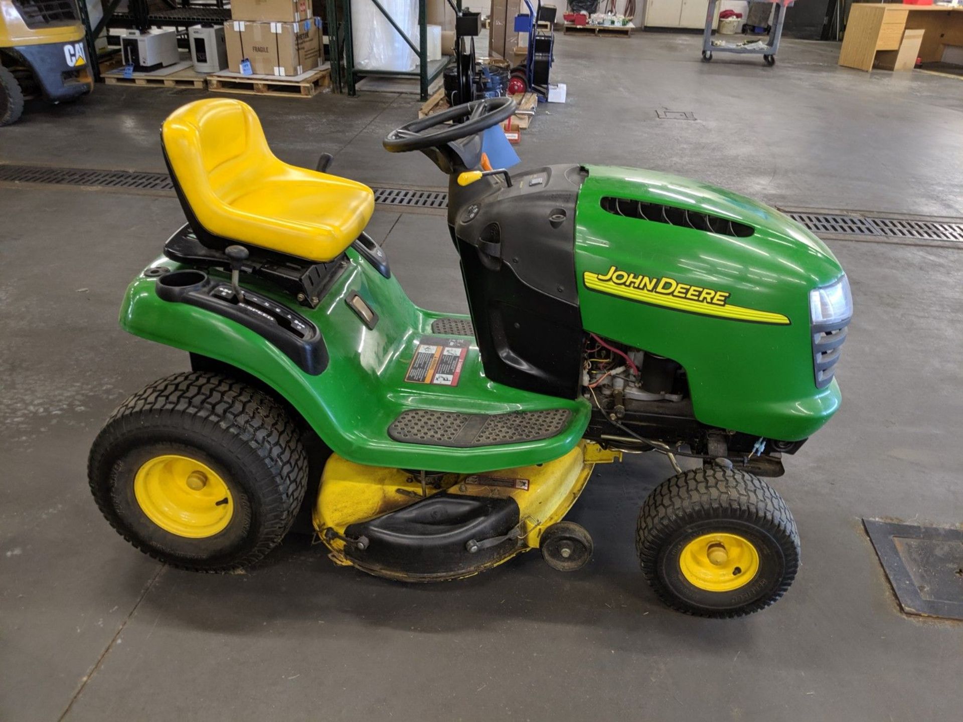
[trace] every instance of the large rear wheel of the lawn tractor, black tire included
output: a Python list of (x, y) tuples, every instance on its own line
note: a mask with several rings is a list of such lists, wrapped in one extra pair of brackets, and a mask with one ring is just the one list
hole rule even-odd
[(221, 374), (174, 374), (125, 400), (88, 473), (101, 512), (155, 559), (228, 572), (268, 554), (307, 486), (299, 429), (268, 395)]

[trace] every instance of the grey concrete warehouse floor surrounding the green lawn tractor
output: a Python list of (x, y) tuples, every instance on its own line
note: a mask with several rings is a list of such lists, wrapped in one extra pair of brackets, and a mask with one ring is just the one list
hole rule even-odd
[[(528, 165), (671, 170), (794, 206), (963, 215), (963, 86), (835, 65), (787, 40), (774, 68), (694, 36), (560, 37), (564, 106), (543, 106)], [(157, 130), (196, 90), (98, 87), (0, 130), (0, 162), (161, 170)], [(244, 96), (277, 154), (372, 183), (440, 186), (380, 139), (408, 96)], [(697, 120), (659, 120), (655, 110)], [(479, 577), (406, 586), (338, 569), (289, 537), (246, 574), (159, 566), (91, 501), (87, 451), (117, 403), (187, 368), (125, 335), (133, 275), (182, 222), (173, 197), (0, 187), (0, 719), (943, 720), (963, 707), (963, 626), (904, 617), (860, 524), (963, 519), (963, 253), (832, 243), (856, 316), (842, 411), (774, 486), (803, 566), (733, 621), (661, 606), (634, 550), (661, 457), (601, 468), (569, 518), (580, 573), (526, 554)], [(373, 231), (418, 303), (466, 308), (438, 217), (379, 210)]]

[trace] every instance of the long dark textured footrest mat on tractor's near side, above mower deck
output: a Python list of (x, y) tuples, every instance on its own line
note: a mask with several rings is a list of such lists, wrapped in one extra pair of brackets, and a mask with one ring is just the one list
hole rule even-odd
[(388, 436), (406, 444), (431, 447), (493, 447), (548, 439), (560, 433), (571, 416), (572, 413), (563, 408), (511, 414), (412, 409), (404, 411), (388, 426)]

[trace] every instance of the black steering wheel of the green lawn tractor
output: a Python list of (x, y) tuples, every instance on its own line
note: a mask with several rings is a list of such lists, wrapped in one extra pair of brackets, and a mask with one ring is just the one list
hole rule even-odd
[[(515, 101), (509, 97), (483, 98), (456, 105), (447, 111), (405, 123), (387, 135), (384, 149), (391, 153), (424, 150), (448, 142), (460, 141), (487, 130), (515, 112)], [(464, 122), (457, 122), (467, 118)], [(449, 120), (455, 121), (446, 125)]]

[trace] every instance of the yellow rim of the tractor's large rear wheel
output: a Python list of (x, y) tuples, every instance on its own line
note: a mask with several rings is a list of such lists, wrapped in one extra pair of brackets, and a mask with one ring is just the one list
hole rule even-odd
[(158, 527), (192, 539), (214, 536), (234, 516), (227, 484), (190, 456), (167, 453), (144, 462), (134, 477), (134, 496)]

